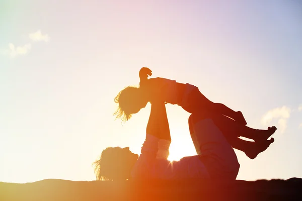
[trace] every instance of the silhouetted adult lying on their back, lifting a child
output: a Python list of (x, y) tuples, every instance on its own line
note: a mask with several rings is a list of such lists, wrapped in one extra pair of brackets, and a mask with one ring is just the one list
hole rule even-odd
[[(226, 138), (237, 138), (237, 135), (228, 133), (229, 136), (224, 137), (226, 134), (223, 135), (211, 119), (198, 114), (190, 116), (189, 128), (197, 155), (179, 161), (167, 160), (171, 136), (166, 107), (164, 102), (152, 102), (146, 138), (139, 157), (128, 147), (108, 147), (94, 163), (97, 179), (236, 179), (240, 165)], [(262, 142), (245, 141), (246, 147), (242, 151), (257, 156), (273, 141), (273, 138)], [(179, 147), (181, 149), (182, 144)]]

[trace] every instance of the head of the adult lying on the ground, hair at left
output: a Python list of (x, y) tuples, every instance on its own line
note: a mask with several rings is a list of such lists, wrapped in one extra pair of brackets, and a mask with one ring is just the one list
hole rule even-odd
[(133, 165), (138, 158), (129, 147), (108, 147), (102, 151), (100, 160), (95, 161), (97, 180), (126, 180), (130, 178)]

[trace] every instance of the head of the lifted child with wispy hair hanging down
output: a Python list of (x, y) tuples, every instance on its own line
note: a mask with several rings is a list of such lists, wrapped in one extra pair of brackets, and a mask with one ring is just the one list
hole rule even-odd
[(118, 109), (114, 113), (116, 118), (127, 121), (132, 114), (138, 113), (140, 109), (144, 108), (148, 100), (145, 98), (142, 89), (128, 86), (117, 94), (114, 102), (118, 103)]

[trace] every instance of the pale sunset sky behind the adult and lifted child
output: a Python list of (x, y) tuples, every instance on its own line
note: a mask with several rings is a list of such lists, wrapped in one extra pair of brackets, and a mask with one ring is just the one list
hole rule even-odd
[[(140, 154), (150, 105), (113, 113), (143, 66), (277, 127), (256, 159), (235, 150), (237, 179), (302, 177), (300, 1), (2, 0), (0, 26), (0, 181), (95, 180), (106, 147)], [(190, 114), (167, 114), (169, 159), (195, 155)]]

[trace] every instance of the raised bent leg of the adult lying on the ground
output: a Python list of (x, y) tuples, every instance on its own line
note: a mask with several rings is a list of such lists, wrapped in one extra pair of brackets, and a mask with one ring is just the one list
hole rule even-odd
[(211, 119), (196, 122), (192, 116), (189, 118), (191, 137), (196, 152), (200, 155), (211, 178), (236, 179), (240, 164), (228, 140)]

